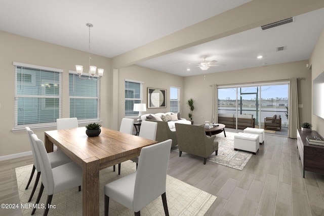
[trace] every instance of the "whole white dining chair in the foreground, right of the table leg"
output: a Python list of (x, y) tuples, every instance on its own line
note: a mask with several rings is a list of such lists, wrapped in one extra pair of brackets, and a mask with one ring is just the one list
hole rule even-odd
[(105, 216), (110, 198), (140, 215), (140, 210), (160, 195), (169, 215), (166, 182), (171, 144), (172, 140), (166, 140), (142, 148), (137, 171), (105, 185)]

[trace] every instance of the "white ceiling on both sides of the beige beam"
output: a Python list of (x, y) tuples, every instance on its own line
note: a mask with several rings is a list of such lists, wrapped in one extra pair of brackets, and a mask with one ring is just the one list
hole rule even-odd
[[(88, 52), (90, 22), (91, 53), (112, 58), (247, 2), (2, 0), (0, 30)], [(138, 65), (189, 76), (306, 60), (324, 28), (323, 20), (320, 9), (294, 17), (293, 23), (264, 31), (255, 28)], [(287, 49), (276, 52), (281, 46)], [(189, 65), (204, 55), (225, 65), (207, 71)], [(256, 59), (258, 55), (264, 58)]]

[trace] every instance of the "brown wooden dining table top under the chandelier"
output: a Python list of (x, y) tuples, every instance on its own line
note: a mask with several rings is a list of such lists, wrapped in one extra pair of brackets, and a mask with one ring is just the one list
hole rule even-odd
[(45, 136), (80, 166), (88, 158), (98, 158), (100, 169), (137, 157), (143, 147), (157, 143), (105, 127), (98, 137), (88, 137), (85, 127), (46, 131)]

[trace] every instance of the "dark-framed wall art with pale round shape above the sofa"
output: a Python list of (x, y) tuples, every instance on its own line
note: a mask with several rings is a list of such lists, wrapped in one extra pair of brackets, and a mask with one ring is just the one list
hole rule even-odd
[(147, 108), (167, 107), (167, 90), (147, 88)]

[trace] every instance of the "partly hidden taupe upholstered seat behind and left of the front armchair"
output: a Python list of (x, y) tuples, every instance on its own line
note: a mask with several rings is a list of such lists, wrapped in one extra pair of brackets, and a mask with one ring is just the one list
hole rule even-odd
[(176, 132), (171, 131), (171, 129), (170, 129), (169, 125), (168, 125), (168, 122), (151, 120), (151, 119), (146, 119), (146, 121), (157, 122), (156, 137), (155, 137), (155, 140), (157, 142), (163, 142), (163, 141), (171, 139), (172, 140), (172, 146), (171, 147), (175, 147), (175, 146), (178, 145)]

